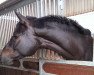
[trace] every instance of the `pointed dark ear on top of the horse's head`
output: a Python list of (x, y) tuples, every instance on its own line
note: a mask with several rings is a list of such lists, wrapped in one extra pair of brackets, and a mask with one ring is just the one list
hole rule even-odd
[(23, 25), (26, 25), (26, 27), (29, 26), (29, 20), (25, 16), (23, 16), (22, 14), (16, 11), (15, 11), (15, 14)]

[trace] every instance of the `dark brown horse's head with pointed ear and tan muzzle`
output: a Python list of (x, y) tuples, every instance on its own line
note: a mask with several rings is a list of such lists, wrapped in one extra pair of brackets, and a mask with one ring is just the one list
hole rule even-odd
[(4, 64), (12, 64), (12, 60), (23, 58), (35, 53), (38, 42), (35, 37), (32, 23), (20, 13), (15, 12), (19, 22), (16, 25), (13, 36), (1, 52), (1, 61)]

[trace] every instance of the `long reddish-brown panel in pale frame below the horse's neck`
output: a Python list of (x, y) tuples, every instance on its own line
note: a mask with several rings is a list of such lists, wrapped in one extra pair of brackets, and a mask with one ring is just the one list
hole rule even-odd
[(57, 75), (94, 75), (94, 67), (90, 66), (45, 63), (43, 69), (46, 73)]

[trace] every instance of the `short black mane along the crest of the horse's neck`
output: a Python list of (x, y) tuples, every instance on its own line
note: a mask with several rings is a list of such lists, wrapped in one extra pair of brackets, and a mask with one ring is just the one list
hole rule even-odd
[(35, 27), (44, 28), (45, 22), (57, 22), (57, 23), (60, 23), (60, 25), (63, 24), (63, 25), (67, 25), (68, 27), (74, 27), (75, 31), (78, 31), (80, 34), (91, 36), (90, 30), (83, 28), (81, 25), (79, 25), (78, 22), (66, 17), (57, 16), (57, 15), (49, 15), (49, 16), (35, 19), (35, 23), (36, 23)]

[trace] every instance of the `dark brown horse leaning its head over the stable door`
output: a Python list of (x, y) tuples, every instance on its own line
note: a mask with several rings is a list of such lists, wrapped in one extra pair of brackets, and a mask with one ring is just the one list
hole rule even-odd
[(15, 14), (19, 22), (1, 52), (3, 64), (11, 65), (41, 48), (53, 50), (66, 60), (92, 61), (91, 32), (78, 22), (58, 15), (37, 18)]

